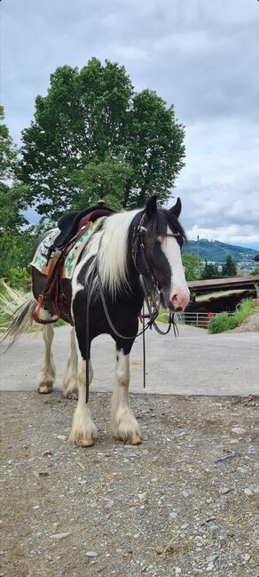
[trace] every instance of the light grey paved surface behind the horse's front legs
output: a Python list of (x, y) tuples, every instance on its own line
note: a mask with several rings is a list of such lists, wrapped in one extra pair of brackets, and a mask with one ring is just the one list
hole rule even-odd
[[(180, 336), (146, 333), (146, 392), (172, 395), (255, 395), (259, 393), (259, 334), (209, 335), (181, 325)], [(70, 327), (55, 330), (53, 352), (60, 389), (69, 351)], [(6, 347), (1, 344), (1, 352)], [(41, 333), (23, 334), (0, 357), (2, 390), (35, 390), (43, 358)], [(131, 392), (143, 391), (142, 337), (130, 356)], [(114, 341), (102, 335), (92, 344), (94, 381), (91, 390), (111, 391)]]

